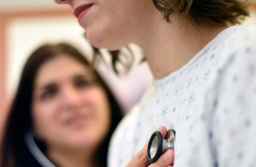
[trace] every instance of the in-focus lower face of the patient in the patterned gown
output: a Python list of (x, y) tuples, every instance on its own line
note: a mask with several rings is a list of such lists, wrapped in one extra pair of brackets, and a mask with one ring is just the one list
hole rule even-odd
[(137, 42), (158, 16), (152, 0), (55, 0), (71, 6), (92, 45), (110, 50)]

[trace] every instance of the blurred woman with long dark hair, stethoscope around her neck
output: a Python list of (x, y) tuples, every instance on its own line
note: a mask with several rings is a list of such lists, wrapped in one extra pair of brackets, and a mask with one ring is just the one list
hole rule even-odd
[(68, 44), (36, 49), (23, 69), (1, 167), (106, 167), (121, 111), (108, 86)]

